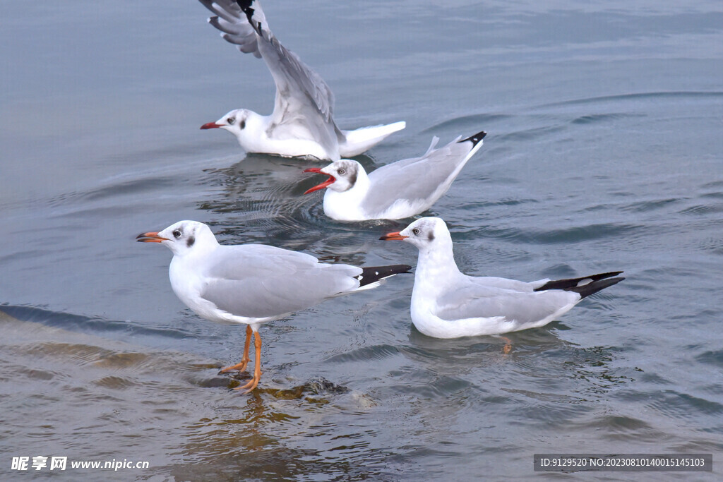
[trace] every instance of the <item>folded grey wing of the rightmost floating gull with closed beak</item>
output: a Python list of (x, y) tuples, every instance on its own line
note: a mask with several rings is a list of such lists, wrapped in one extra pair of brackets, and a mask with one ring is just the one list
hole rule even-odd
[(580, 296), (569, 291), (521, 292), (505, 288), (469, 286), (437, 299), (442, 319), (504, 317), (509, 322), (538, 322), (576, 304)]

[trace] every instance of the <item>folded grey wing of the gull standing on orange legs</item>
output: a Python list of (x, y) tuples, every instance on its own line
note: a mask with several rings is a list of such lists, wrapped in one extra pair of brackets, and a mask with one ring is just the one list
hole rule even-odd
[(279, 317), (359, 288), (361, 268), (273, 246), (221, 246), (201, 296), (241, 317)]

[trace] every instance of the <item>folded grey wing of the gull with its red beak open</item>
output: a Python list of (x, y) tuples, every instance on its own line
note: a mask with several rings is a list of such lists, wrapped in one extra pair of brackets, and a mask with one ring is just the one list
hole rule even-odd
[(370, 212), (380, 212), (399, 199), (410, 203), (428, 201), (432, 205), (449, 189), (463, 165), (481, 146), (472, 142), (459, 142), (435, 149), (439, 139), (432, 139), (429, 150), (419, 158), (400, 160), (382, 165), (369, 173), (374, 189), (364, 199)]

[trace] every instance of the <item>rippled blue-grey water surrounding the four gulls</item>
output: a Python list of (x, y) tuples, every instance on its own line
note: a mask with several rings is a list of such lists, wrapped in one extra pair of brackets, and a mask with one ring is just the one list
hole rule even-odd
[(69, 479), (179, 481), (533, 478), (537, 452), (719, 464), (723, 7), (445, 5), (264, 9), (333, 88), (341, 126), (407, 121), (365, 167), (489, 133), (429, 212), (466, 272), (627, 279), (510, 334), (505, 355), (498, 337), (414, 330), (414, 279), (398, 276), (265, 325), (246, 396), (218, 374), (243, 330), (184, 309), (171, 254), (134, 236), (195, 219), (226, 244), (414, 264), (412, 246), (377, 241), (407, 222), (328, 220), (301, 195), (307, 163), (198, 129), (273, 105), (265, 66), (200, 4), (0, 5), (2, 478), (35, 455), (150, 462)]

